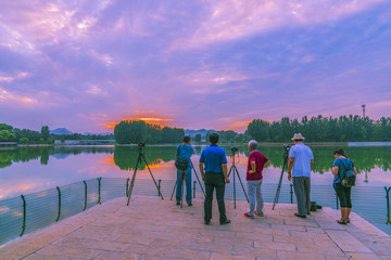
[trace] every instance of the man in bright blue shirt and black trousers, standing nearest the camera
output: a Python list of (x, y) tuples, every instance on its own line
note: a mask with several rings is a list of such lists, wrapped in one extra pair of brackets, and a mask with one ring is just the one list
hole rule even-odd
[(230, 223), (230, 220), (227, 219), (224, 204), (225, 184), (229, 183), (227, 176), (227, 156), (225, 151), (217, 145), (217, 133), (212, 133), (210, 135), (210, 143), (211, 145), (202, 151), (199, 165), (202, 180), (205, 182), (206, 191), (204, 203), (204, 220), (205, 224), (210, 224), (212, 219), (213, 190), (216, 188), (219, 222), (220, 224), (228, 224)]

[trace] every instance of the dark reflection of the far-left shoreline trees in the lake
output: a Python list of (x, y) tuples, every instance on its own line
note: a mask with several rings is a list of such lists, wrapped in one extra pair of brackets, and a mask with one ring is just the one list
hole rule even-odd
[(48, 165), (49, 157), (59, 154), (112, 154), (113, 150), (112, 146), (23, 146), (15, 150), (0, 150), (0, 168), (11, 166), (12, 162), (27, 162), (35, 159), (39, 159), (41, 165)]

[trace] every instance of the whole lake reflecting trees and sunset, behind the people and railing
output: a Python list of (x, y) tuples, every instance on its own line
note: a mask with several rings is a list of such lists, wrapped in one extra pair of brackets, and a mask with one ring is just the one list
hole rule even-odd
[[(192, 157), (192, 161), (198, 174), (200, 174), (198, 160), (203, 147), (205, 146), (194, 146), (197, 154)], [(229, 168), (232, 162), (230, 146), (222, 145), (222, 147), (226, 150), (227, 156), (229, 156)], [(239, 153), (236, 154), (235, 161), (244, 183), (249, 151), (245, 146), (238, 147)], [(332, 154), (335, 148), (337, 147), (312, 147), (315, 157), (312, 176), (312, 200), (332, 208), (337, 207), (336, 194), (332, 190), (333, 176), (330, 171), (335, 159)], [(386, 224), (390, 216), (387, 211), (384, 190), (384, 186), (391, 186), (391, 147), (344, 147), (344, 150), (355, 162), (358, 171), (356, 186), (352, 194), (353, 211), (391, 234), (391, 226)], [(281, 174), (283, 147), (263, 146), (260, 147), (260, 152), (270, 160), (270, 166), (264, 170), (263, 194), (266, 202), (273, 203)], [(20, 199), (21, 194), (26, 195), (47, 190), (55, 192), (56, 186), (72, 183), (83, 184), (84, 180), (100, 177), (103, 180), (124, 180), (125, 183), (126, 179), (133, 176), (137, 157), (137, 146), (29, 146), (0, 150), (0, 218), (7, 211), (4, 210), (5, 206), (1, 208), (1, 203), (11, 202), (10, 198), (14, 197)], [(155, 180), (161, 180), (162, 190), (165, 191), (164, 195), (169, 196), (176, 180), (175, 146), (148, 145), (146, 158)], [(232, 181), (232, 176), (230, 179)], [(236, 181), (237, 199), (245, 199), (238, 180)], [(141, 185), (141, 183), (149, 183), (144, 187), (144, 194), (156, 195), (150, 173), (143, 164), (139, 166), (136, 186)], [(150, 185), (151, 183), (152, 185)], [(228, 184), (227, 199), (232, 199), (232, 183)], [(198, 196), (202, 196), (200, 192), (199, 186), (197, 186)], [(282, 181), (280, 203), (290, 203), (290, 182), (287, 180), (286, 173)]]

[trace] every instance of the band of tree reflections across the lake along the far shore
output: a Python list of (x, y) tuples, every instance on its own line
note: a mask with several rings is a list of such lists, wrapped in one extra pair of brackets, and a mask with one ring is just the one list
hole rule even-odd
[[(201, 154), (205, 146), (195, 146), (195, 153)], [(231, 155), (230, 146), (222, 146), (227, 156)], [(247, 164), (249, 151), (247, 146), (238, 146), (237, 153), (239, 164)], [(330, 172), (333, 161), (332, 152), (336, 147), (331, 146), (314, 146), (314, 172), (325, 173)], [(343, 147), (350, 158), (356, 165), (358, 173), (365, 174), (365, 182), (368, 181), (368, 173), (374, 169), (381, 169), (382, 171), (391, 170), (391, 147)], [(282, 167), (282, 146), (263, 146), (260, 147), (269, 160), (274, 168)], [(79, 154), (114, 154), (114, 164), (121, 170), (134, 170), (138, 157), (137, 146), (27, 146), (17, 147), (14, 150), (0, 150), (0, 168), (12, 166), (13, 162), (28, 162), (30, 160), (39, 159), (41, 165), (48, 165), (50, 156), (58, 159), (66, 158), (70, 155)], [(174, 161), (176, 158), (175, 146), (149, 146), (146, 148), (146, 157), (149, 165), (160, 165), (163, 162)], [(112, 164), (113, 160), (108, 158), (106, 164)], [(144, 164), (140, 166), (140, 170), (144, 169)]]

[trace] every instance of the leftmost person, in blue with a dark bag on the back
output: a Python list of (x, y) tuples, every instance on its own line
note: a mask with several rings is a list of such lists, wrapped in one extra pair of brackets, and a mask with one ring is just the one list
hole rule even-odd
[(191, 146), (190, 138), (184, 136), (182, 144), (177, 147), (177, 160), (175, 162), (177, 168), (177, 191), (176, 191), (176, 205), (180, 205), (182, 196), (182, 182), (186, 182), (186, 203), (192, 206), (191, 203), (191, 155), (195, 152)]

